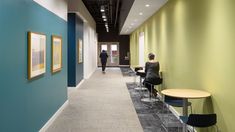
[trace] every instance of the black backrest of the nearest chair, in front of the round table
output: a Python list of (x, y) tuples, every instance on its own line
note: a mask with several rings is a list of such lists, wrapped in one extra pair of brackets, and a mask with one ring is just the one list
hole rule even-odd
[(187, 124), (194, 127), (209, 127), (216, 125), (216, 114), (190, 114)]

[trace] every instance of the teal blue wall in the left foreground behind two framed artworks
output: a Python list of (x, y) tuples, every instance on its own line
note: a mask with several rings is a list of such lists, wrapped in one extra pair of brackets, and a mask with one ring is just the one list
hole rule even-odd
[[(46, 73), (30, 81), (28, 31), (47, 37)], [(63, 38), (63, 68), (53, 75), (52, 34)], [(67, 22), (32, 0), (1, 0), (0, 63), (0, 131), (38, 131), (67, 100)]]

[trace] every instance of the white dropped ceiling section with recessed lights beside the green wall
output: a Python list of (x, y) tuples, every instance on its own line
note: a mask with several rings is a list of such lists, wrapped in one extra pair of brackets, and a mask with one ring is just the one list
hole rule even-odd
[(120, 34), (131, 34), (136, 28), (166, 4), (166, 2), (167, 0), (135, 0)]

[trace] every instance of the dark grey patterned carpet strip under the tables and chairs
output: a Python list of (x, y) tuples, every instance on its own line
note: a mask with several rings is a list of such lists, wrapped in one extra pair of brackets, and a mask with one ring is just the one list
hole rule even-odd
[(148, 91), (137, 91), (134, 88), (136, 84), (127, 83), (128, 91), (136, 113), (144, 132), (181, 132), (182, 123), (175, 117), (162, 101), (154, 103), (144, 103), (141, 101), (142, 96), (148, 95)]

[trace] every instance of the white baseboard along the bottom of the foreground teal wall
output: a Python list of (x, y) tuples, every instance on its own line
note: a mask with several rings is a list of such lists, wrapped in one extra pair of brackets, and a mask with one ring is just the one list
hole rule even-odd
[(61, 112), (67, 107), (69, 101), (66, 100), (64, 104), (55, 112), (55, 114), (47, 121), (47, 123), (39, 130), (39, 132), (45, 132), (55, 119), (61, 114)]

